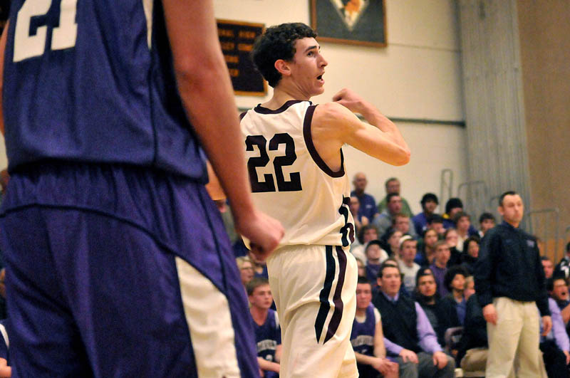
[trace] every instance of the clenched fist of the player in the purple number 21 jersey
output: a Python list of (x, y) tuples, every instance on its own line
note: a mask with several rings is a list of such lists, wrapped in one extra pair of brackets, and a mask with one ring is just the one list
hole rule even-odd
[(261, 261), (269, 257), (285, 233), (279, 221), (257, 210), (239, 214), (236, 229), (249, 239), (252, 252)]

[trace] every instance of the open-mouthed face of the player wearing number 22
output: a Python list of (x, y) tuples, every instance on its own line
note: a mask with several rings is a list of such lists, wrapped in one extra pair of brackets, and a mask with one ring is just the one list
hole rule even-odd
[(323, 73), (328, 65), (321, 55), (321, 46), (315, 38), (301, 38), (295, 41), (295, 55), (289, 62), (291, 78), (297, 89), (309, 100), (324, 92)]

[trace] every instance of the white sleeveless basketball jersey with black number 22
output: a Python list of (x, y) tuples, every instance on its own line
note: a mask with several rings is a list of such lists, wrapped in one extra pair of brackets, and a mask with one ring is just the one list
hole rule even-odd
[(354, 240), (342, 150), (341, 169), (333, 172), (311, 139), (315, 107), (291, 100), (278, 110), (258, 105), (242, 115), (252, 196), (259, 210), (284, 226), (279, 246), (346, 247)]

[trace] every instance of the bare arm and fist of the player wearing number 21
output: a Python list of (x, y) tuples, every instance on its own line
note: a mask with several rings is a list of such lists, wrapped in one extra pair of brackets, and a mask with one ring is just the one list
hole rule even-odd
[(266, 257), (279, 243), (283, 229), (257, 211), (250, 196), (237, 106), (212, 0), (162, 3), (182, 103), (232, 205), (237, 231)]

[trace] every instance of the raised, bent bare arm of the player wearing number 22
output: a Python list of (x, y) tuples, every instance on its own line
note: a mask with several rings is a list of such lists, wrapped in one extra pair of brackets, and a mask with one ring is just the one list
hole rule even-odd
[[(371, 103), (346, 89), (337, 93), (333, 100), (333, 103), (318, 105), (313, 116), (311, 133), (314, 139), (319, 139), (321, 134), (327, 135), (321, 140), (336, 142), (322, 150), (338, 151), (348, 143), (388, 164), (404, 165), (410, 161), (410, 148), (398, 127)], [(361, 113), (370, 125), (361, 122), (354, 113)]]

